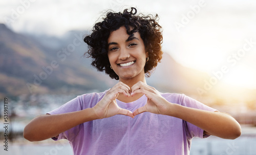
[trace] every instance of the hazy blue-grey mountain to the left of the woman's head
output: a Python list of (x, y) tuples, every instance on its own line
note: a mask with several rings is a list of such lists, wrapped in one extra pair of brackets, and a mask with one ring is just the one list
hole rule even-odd
[(3, 24), (0, 34), (0, 96), (102, 91), (113, 83), (82, 62), (89, 60), (78, 38), (67, 44), (55, 38), (55, 46), (47, 46)]

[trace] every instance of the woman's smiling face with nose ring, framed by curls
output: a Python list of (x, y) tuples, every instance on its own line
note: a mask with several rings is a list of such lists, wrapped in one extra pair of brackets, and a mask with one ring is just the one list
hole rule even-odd
[(110, 33), (108, 39), (110, 64), (119, 80), (145, 78), (144, 66), (147, 54), (138, 32), (129, 37), (124, 27)]

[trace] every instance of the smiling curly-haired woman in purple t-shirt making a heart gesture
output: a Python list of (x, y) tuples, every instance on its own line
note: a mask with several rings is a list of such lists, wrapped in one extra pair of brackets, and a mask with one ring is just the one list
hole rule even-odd
[(241, 135), (229, 115), (146, 84), (145, 75), (162, 58), (162, 34), (157, 15), (136, 13), (108, 12), (84, 38), (92, 65), (119, 82), (33, 119), (24, 129), (26, 139), (67, 139), (74, 154), (189, 154), (193, 137)]

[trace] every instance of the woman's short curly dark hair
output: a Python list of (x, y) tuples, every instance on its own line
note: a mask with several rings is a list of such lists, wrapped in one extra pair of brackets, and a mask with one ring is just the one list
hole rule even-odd
[[(103, 21), (94, 25), (92, 34), (84, 37), (84, 42), (88, 44), (88, 52), (84, 53), (88, 57), (92, 57), (92, 65), (98, 71), (109, 74), (111, 78), (119, 79), (118, 75), (110, 68), (108, 57), (108, 38), (112, 31), (118, 30), (124, 26), (128, 35), (133, 35), (139, 32), (145, 46), (145, 51), (148, 53), (148, 61), (146, 61), (144, 72), (147, 77), (151, 75), (153, 68), (162, 59), (162, 30), (161, 26), (157, 23), (158, 15), (155, 17), (152, 14), (144, 16), (143, 14), (136, 15), (137, 9), (131, 8), (129, 12), (125, 9), (123, 13), (110, 11), (106, 14)], [(133, 30), (130, 30), (130, 27)]]

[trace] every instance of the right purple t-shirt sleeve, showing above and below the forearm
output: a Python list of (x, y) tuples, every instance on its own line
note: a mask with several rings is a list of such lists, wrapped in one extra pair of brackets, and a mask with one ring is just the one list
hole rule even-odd
[[(202, 109), (202, 110), (207, 110), (210, 112), (216, 112), (218, 110), (211, 108), (193, 98), (190, 98), (184, 94), (182, 94), (181, 96), (181, 105), (186, 106), (186, 107), (191, 107), (191, 108), (197, 108), (197, 109)], [(207, 138), (209, 137), (209, 135), (204, 135), (203, 132), (204, 130), (201, 129), (200, 127), (191, 124), (189, 122), (186, 122), (183, 120), (183, 124), (185, 126), (186, 129), (186, 134), (187, 137), (189, 138), (193, 138), (193, 137), (198, 137), (198, 138)]]

